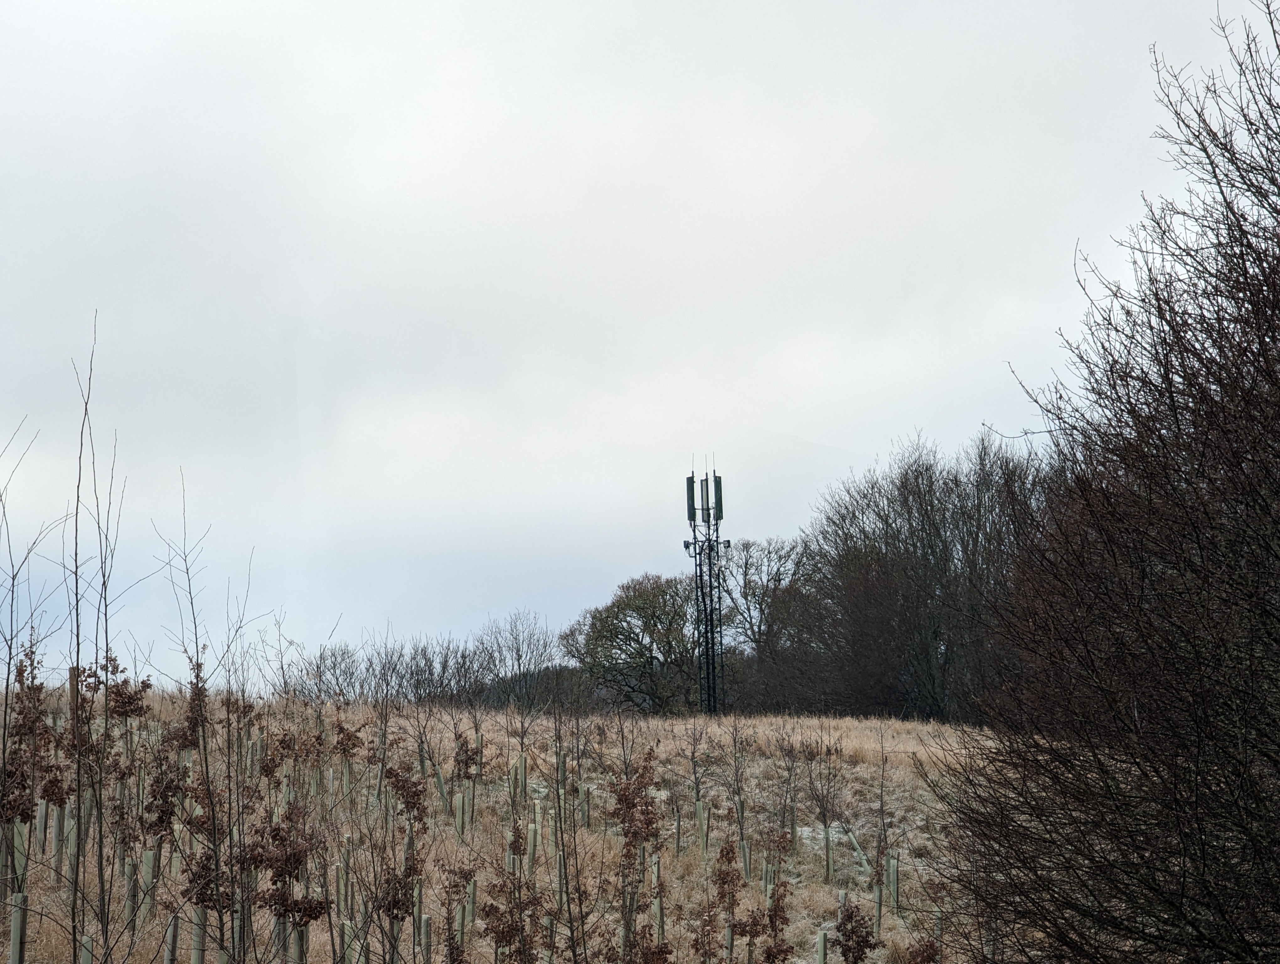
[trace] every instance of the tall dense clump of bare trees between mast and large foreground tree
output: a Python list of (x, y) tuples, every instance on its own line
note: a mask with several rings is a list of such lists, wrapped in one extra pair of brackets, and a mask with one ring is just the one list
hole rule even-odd
[(1032, 452), (983, 433), (952, 458), (916, 439), (826, 495), (805, 534), (803, 617), (841, 687), (833, 708), (975, 719), (998, 662), (991, 606), (1039, 479)]

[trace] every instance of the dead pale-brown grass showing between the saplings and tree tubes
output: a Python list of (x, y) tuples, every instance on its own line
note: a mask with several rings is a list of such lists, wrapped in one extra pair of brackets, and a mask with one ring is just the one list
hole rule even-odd
[[(163, 753), (164, 732), (180, 719), (183, 707), (172, 696), (154, 695), (150, 722), (141, 727), (145, 750)], [(936, 880), (931, 872), (937, 841), (931, 826), (932, 799), (919, 767), (929, 766), (928, 746), (947, 737), (943, 727), (920, 723), (879, 719), (847, 718), (794, 718), (753, 717), (746, 719), (709, 718), (639, 718), (591, 717), (559, 719), (547, 717), (538, 721), (526, 744), (529, 773), (529, 803), (517, 800), (513, 810), (508, 775), (518, 759), (516, 734), (503, 713), (472, 708), (404, 708), (383, 714), (387, 719), (385, 757), (379, 758), (381, 737), (379, 714), (370, 708), (346, 708), (340, 713), (333, 707), (323, 712), (325, 737), (319, 744), (303, 749), (305, 737), (316, 731), (314, 708), (301, 704), (273, 704), (260, 707), (256, 728), (262, 735), (270, 753), (279, 758), (279, 769), (271, 780), (262, 778), (262, 803), (246, 805), (237, 814), (237, 801), (223, 801), (233, 819), (243, 826), (270, 827), (274, 810), (287, 801), (292, 791), (303, 812), (302, 822), (316, 835), (315, 853), (308, 860), (307, 880), (302, 887), (323, 900), (332, 900), (335, 887), (335, 865), (340, 862), (342, 848), (349, 839), (352, 848), (352, 878), (357, 895), (364, 894), (370, 905), (401, 867), (404, 854), (404, 833), (413, 824), (411, 864), (422, 885), (422, 910), (433, 919), (433, 961), (445, 960), (444, 931), (453, 917), (456, 895), (447, 888), (448, 872), (463, 868), (475, 873), (480, 894), (504, 869), (506, 835), (512, 821), (520, 821), (527, 832), (535, 808), (541, 804), (544, 814), (543, 840), (550, 841), (550, 812), (554, 809), (557, 750), (566, 754), (566, 807), (577, 815), (579, 783), (589, 787), (591, 798), (591, 826), (567, 827), (566, 846), (577, 854), (580, 883), (594, 901), (593, 910), (602, 927), (596, 940), (600, 954), (608, 956), (611, 932), (608, 920), (618, 909), (611, 904), (616, 892), (611, 890), (611, 877), (616, 876), (622, 837), (616, 822), (605, 821), (611, 801), (611, 787), (625, 778), (636, 766), (646, 748), (655, 753), (658, 786), (653, 795), (658, 799), (659, 824), (657, 840), (648, 845), (648, 853), (660, 853), (662, 878), (666, 882), (664, 915), (669, 960), (677, 964), (696, 964), (694, 949), (694, 922), (705, 910), (710, 892), (712, 858), (726, 839), (737, 840), (739, 818), (733, 791), (735, 780), (742, 789), (742, 831), (751, 845), (753, 867), (740, 915), (764, 905), (765, 894), (762, 871), (771, 848), (781, 846), (781, 876), (791, 885), (791, 922), (787, 940), (795, 946), (795, 959), (813, 960), (819, 929), (832, 928), (840, 913), (840, 892), (847, 891), (847, 901), (874, 914), (872, 885), (877, 878), (887, 885), (887, 856), (900, 855), (899, 906), (890, 906), (888, 888), (884, 890), (881, 937), (886, 946), (873, 959), (905, 961), (913, 936), (933, 932)], [(339, 751), (333, 744), (335, 725), (356, 732), (361, 746)], [(559, 744), (556, 743), (557, 727)], [(686, 751), (691, 728), (704, 731), (699, 755)], [(211, 723), (216, 736), (216, 721)], [(454, 819), (442, 801), (435, 783), (435, 769), (447, 781), (448, 792), (462, 790), (467, 773), (457, 772), (456, 740), (474, 743), (476, 732), (483, 735), (484, 767), (475, 787), (475, 818), (461, 839)], [(228, 737), (229, 739), (229, 737)], [(210, 753), (225, 763), (227, 740), (212, 741)], [(429, 773), (424, 778), (419, 766), (419, 745), (430, 758)], [(737, 767), (735, 777), (735, 755)], [(410, 805), (412, 792), (407, 791), (390, 801), (388, 808), (378, 800), (376, 773), (379, 764), (394, 767), (408, 775), (421, 791), (416, 807)], [(237, 763), (236, 766), (242, 766)], [(343, 794), (343, 768), (352, 771), (352, 787)], [(692, 769), (703, 768), (701, 798), (708, 808), (709, 848), (704, 860), (695, 842)], [(824, 881), (826, 850), (823, 827), (817, 808), (806, 789), (808, 769), (829, 768), (835, 775), (835, 799), (831, 815), (833, 878)], [(312, 777), (312, 772), (315, 777)], [(312, 778), (319, 792), (312, 795)], [(334, 792), (330, 795), (330, 782)], [(384, 780), (384, 794), (389, 783)], [(404, 785), (410, 787), (410, 783)], [(410, 787), (411, 789), (411, 787)], [(416, 791), (415, 791), (416, 792)], [(795, 805), (795, 848), (791, 848), (791, 807)], [(676, 853), (676, 810), (681, 814), (681, 853)], [(566, 822), (570, 819), (566, 817)], [(51, 833), (50, 821), (50, 833)], [(607, 826), (609, 824), (609, 826)], [(136, 928), (129, 937), (123, 927), (123, 882), (116, 877), (111, 890), (104, 896), (109, 908), (106, 928), (111, 946), (104, 946), (101, 927), (95, 942), (95, 960), (161, 960), (165, 927), (170, 914), (183, 922), (179, 938), (179, 959), (191, 960), (193, 906), (183, 896), (188, 885), (188, 872), (177, 877), (170, 873), (170, 853), (178, 848), (183, 867), (189, 867), (192, 856), (209, 841), (201, 842), (192, 827), (180, 827), (175, 840), (164, 844), (160, 865), (163, 873), (156, 882), (155, 914)], [(864, 869), (854, 848), (846, 841), (845, 830), (851, 831), (870, 863)], [(248, 832), (248, 831), (242, 831)], [(225, 841), (224, 841), (225, 844)], [(133, 859), (141, 862), (141, 844), (131, 844)], [(96, 854), (88, 855), (92, 860)], [(111, 863), (115, 854), (105, 854)], [(534, 881), (541, 909), (550, 903), (556, 890), (556, 848), (544, 842), (535, 858)], [(28, 923), (28, 960), (70, 960), (67, 937), (69, 913), (65, 886), (54, 886), (51, 877), (51, 849), (32, 853), (28, 867), (27, 892), (31, 903)], [(257, 887), (268, 886), (261, 876)], [(90, 888), (91, 901), (97, 892)], [(82, 895), (83, 899), (83, 895)], [(358, 904), (358, 896), (357, 901)], [(358, 913), (358, 910), (356, 912)], [(340, 941), (335, 909), (310, 928), (308, 960), (333, 960)], [(230, 920), (221, 922), (223, 933), (229, 936)], [(246, 960), (271, 960), (270, 919), (266, 912), (255, 915), (255, 932)], [(210, 914), (207, 960), (218, 960), (219, 922)], [(612, 928), (616, 931), (616, 927)], [(229, 940), (228, 940), (229, 946)], [(468, 960), (495, 959), (495, 949), (486, 936), (485, 926), (477, 923), (467, 928), (465, 955)], [(370, 960), (389, 960), (385, 932), (371, 927), (369, 932)], [(419, 947), (413, 946), (410, 927), (398, 944), (401, 960), (421, 961)], [(723, 959), (723, 958), (722, 958)], [(736, 944), (735, 960), (746, 960), (746, 946)], [(558, 946), (554, 960), (570, 960)]]

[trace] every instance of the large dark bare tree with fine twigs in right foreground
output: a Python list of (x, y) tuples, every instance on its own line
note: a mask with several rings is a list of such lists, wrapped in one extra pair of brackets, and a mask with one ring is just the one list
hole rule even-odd
[(1280, 954), (1280, 10), (1157, 60), (1188, 174), (1038, 396), (1057, 471), (1000, 638), (1016, 673), (938, 790), (947, 932), (1036, 960)]

